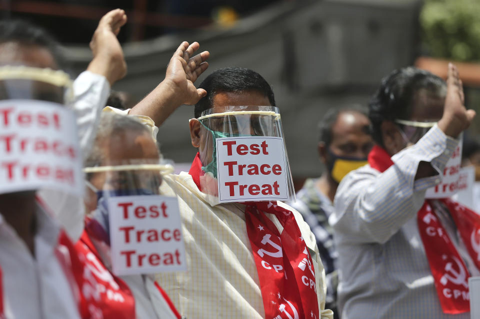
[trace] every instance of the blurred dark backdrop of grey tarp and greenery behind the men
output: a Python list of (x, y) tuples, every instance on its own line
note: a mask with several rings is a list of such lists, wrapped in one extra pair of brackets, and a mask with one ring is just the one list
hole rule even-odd
[[(466, 106), (480, 112), (478, 0), (0, 0), (1, 18), (24, 18), (64, 44), (70, 72), (85, 69), (99, 18), (126, 10), (118, 35), (128, 74), (113, 89), (131, 107), (164, 77), (181, 41), (209, 50), (209, 69), (248, 67), (273, 86), (297, 189), (322, 170), (317, 123), (331, 107), (366, 105), (380, 79), (417, 65), (445, 77), (459, 67)], [(205, 77), (202, 75), (197, 84)], [(188, 170), (191, 106), (160, 127), (165, 158)], [(480, 116), (471, 127), (480, 133)], [(181, 164), (184, 163), (184, 164)]]

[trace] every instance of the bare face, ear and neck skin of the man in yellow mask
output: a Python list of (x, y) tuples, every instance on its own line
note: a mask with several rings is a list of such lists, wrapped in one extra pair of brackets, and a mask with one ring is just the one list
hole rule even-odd
[[(373, 140), (368, 134), (369, 125), (368, 118), (359, 112), (341, 112), (331, 129), (330, 151), (341, 157), (366, 158), (373, 147)], [(318, 154), (326, 166), (329, 156), (325, 143), (318, 143)], [(338, 183), (327, 170), (318, 179), (316, 187), (333, 202)]]

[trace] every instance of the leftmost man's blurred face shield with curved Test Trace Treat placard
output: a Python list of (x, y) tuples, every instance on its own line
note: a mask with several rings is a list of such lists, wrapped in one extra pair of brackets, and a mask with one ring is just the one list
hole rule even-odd
[(74, 114), (62, 71), (0, 67), (0, 194), (53, 190), (82, 196)]

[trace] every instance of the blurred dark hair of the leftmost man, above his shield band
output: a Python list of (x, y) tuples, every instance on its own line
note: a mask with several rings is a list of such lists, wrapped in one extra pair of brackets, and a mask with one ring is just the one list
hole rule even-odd
[(25, 20), (0, 21), (0, 43), (17, 42), (23, 45), (37, 45), (47, 49), (57, 66), (65, 66), (60, 44), (45, 29)]

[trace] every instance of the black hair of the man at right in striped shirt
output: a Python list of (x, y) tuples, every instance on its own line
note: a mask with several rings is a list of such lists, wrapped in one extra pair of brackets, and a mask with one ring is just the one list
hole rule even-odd
[(383, 121), (410, 118), (413, 99), (418, 90), (424, 89), (443, 97), (445, 87), (445, 81), (438, 76), (412, 66), (396, 69), (384, 77), (368, 104), (373, 140), (384, 146), (381, 136)]

